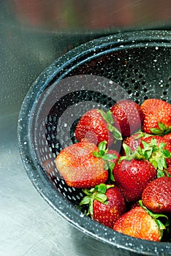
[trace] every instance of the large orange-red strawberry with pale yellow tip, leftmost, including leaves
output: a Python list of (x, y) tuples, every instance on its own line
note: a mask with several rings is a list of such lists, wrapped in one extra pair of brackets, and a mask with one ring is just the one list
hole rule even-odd
[(107, 170), (114, 165), (110, 160), (116, 156), (107, 154), (106, 144), (99, 143), (97, 148), (94, 143), (82, 140), (62, 149), (55, 162), (68, 186), (90, 188), (107, 181)]

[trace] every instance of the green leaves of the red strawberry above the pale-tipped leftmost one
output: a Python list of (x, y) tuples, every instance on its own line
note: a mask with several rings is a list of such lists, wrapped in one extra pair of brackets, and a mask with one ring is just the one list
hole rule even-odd
[(107, 129), (112, 133), (113, 137), (116, 140), (123, 140), (121, 132), (118, 131), (118, 129), (114, 125), (113, 117), (111, 111), (107, 111), (107, 113), (104, 112), (104, 110), (98, 110), (101, 114), (104, 121), (107, 123)]

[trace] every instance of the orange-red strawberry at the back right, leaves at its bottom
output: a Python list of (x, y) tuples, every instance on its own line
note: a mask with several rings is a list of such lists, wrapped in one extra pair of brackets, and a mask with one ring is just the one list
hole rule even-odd
[(161, 99), (146, 99), (140, 106), (144, 114), (142, 131), (153, 135), (171, 132), (171, 105)]

